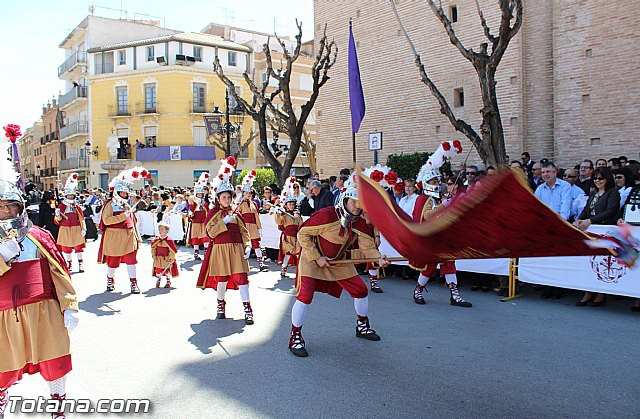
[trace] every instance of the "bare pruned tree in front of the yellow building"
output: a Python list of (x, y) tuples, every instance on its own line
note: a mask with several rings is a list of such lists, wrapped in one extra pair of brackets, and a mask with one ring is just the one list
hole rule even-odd
[[(223, 83), (229, 87), (229, 91), (235, 97), (236, 101), (240, 103), (245, 112), (258, 123), (260, 138), (258, 150), (264, 155), (267, 162), (269, 162), (280, 185), (283, 185), (289, 176), (291, 167), (303, 143), (304, 126), (307, 118), (318, 99), (320, 88), (329, 80), (329, 69), (335, 64), (338, 54), (338, 47), (335, 41), (332, 40), (329, 42), (327, 40), (327, 27), (325, 25), (323, 36), (318, 42), (318, 51), (315, 55), (315, 61), (311, 70), (311, 76), (313, 78), (311, 96), (307, 102), (302, 105), (299, 113), (297, 113), (291, 99), (290, 89), (293, 65), (300, 57), (300, 49), (302, 47), (302, 23), (296, 20), (296, 26), (298, 27), (298, 34), (296, 35), (296, 47), (293, 52), (290, 52), (282, 39), (276, 35), (276, 39), (282, 47), (282, 55), (285, 61), (277, 71), (273, 67), (269, 40), (264, 44), (263, 52), (267, 61), (267, 80), (263, 80), (261, 87), (256, 86), (253, 80), (251, 80), (251, 77), (246, 72), (244, 73), (244, 80), (249, 85), (249, 89), (253, 94), (251, 104), (238, 95), (233, 82), (224, 75), (217, 58), (214, 65), (214, 71)], [(269, 78), (277, 81), (277, 87), (271, 93), (267, 92)], [(281, 108), (274, 104), (276, 98), (279, 99), (278, 101), (281, 103)], [(286, 133), (291, 141), (284, 163), (281, 163), (269, 148), (267, 142), (268, 125), (275, 126), (277, 131)]]

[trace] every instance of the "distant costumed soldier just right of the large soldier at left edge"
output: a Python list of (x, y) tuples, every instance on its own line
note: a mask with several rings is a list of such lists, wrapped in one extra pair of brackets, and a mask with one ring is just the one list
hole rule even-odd
[(64, 256), (69, 272), (71, 272), (71, 261), (74, 251), (78, 258), (78, 270), (84, 272), (82, 253), (87, 243), (85, 240), (87, 227), (84, 222), (84, 213), (80, 205), (76, 203), (77, 185), (78, 174), (71, 173), (64, 186), (64, 199), (56, 209), (53, 219), (53, 221), (60, 226), (56, 245)]

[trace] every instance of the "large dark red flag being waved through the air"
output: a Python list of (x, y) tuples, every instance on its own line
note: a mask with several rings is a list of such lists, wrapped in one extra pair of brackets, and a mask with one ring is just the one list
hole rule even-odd
[(414, 221), (377, 182), (362, 172), (360, 204), (405, 258), (427, 264), (456, 259), (611, 255), (587, 246), (594, 238), (543, 204), (524, 177), (505, 170), (480, 187)]

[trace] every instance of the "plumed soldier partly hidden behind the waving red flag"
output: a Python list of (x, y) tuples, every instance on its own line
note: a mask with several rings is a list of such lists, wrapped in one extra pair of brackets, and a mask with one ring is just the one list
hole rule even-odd
[[(416, 221), (424, 221), (429, 214), (429, 211), (434, 210), (438, 205), (442, 204), (441, 194), (446, 190), (446, 186), (443, 188), (440, 185), (440, 166), (444, 163), (444, 159), (455, 154), (457, 149), (451, 142), (445, 142), (438, 147), (435, 153), (433, 153), (429, 160), (420, 168), (418, 177), (416, 179), (418, 188), (422, 189), (422, 194), (416, 199), (415, 206), (413, 208), (413, 219)], [(411, 264), (412, 267), (420, 271), (418, 277), (418, 283), (413, 291), (413, 300), (416, 304), (425, 304), (423, 292), (427, 285), (429, 278), (435, 276), (437, 263), (430, 263), (426, 266), (416, 266)], [(472, 304), (465, 301), (460, 296), (460, 290), (458, 289), (458, 278), (456, 276), (455, 261), (446, 261), (440, 264), (440, 273), (444, 274), (444, 277), (449, 285), (449, 292), (451, 293), (450, 303), (453, 306), (458, 307), (471, 307)]]

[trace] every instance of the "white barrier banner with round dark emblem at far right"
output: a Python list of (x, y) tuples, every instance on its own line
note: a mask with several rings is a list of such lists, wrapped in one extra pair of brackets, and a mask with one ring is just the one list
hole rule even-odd
[[(606, 234), (615, 229), (594, 225), (589, 231)], [(640, 239), (639, 227), (633, 227), (633, 235)], [(640, 297), (640, 267), (626, 268), (613, 256), (522, 258), (518, 276), (520, 281), (532, 284)]]

